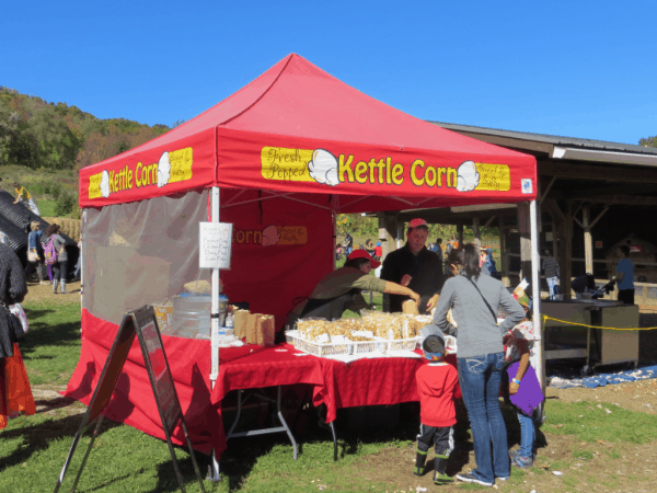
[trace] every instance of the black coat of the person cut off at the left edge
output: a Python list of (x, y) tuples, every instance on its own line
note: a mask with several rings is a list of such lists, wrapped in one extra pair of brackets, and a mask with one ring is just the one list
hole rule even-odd
[(14, 251), (0, 243), (0, 358), (13, 356), (9, 324), (9, 306), (20, 303), (27, 294), (27, 282)]

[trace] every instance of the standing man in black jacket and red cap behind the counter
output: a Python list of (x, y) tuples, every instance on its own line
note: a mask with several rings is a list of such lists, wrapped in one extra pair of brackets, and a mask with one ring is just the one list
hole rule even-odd
[[(407, 286), (419, 294), (420, 313), (429, 312), (436, 307), (445, 284), (442, 261), (425, 245), (428, 234), (427, 221), (413, 219), (406, 230), (406, 244), (385, 256), (381, 271), (382, 279)], [(403, 301), (404, 297), (391, 295), (387, 311), (402, 311)]]

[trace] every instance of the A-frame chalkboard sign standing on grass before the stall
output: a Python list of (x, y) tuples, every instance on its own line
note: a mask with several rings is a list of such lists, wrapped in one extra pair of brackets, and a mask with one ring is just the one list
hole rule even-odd
[(162, 420), (162, 428), (164, 429), (164, 436), (166, 437), (166, 445), (169, 446), (169, 451), (171, 452), (173, 470), (177, 478), (181, 492), (185, 493), (186, 490), (185, 485), (183, 484), (183, 477), (181, 475), (181, 471), (177, 466), (173, 444), (171, 443), (171, 433), (177, 426), (178, 422), (182, 425), (185, 439), (187, 440), (187, 447), (189, 449), (194, 472), (196, 473), (196, 479), (200, 486), (200, 491), (205, 493), (203, 480), (200, 478), (200, 471), (198, 470), (198, 463), (196, 462), (194, 449), (192, 448), (192, 440), (189, 439), (189, 434), (187, 433), (187, 426), (185, 424), (181, 403), (178, 401), (177, 393), (175, 392), (173, 377), (171, 376), (171, 371), (169, 369), (169, 360), (166, 359), (166, 354), (164, 353), (164, 346), (162, 344), (162, 337), (160, 336), (160, 330), (158, 329), (158, 322), (155, 320), (153, 307), (142, 307), (139, 310), (126, 313), (124, 317), (120, 326), (118, 328), (118, 332), (116, 333), (114, 344), (112, 345), (110, 354), (107, 355), (107, 360), (105, 362), (101, 377), (99, 378), (99, 383), (93, 392), (89, 408), (87, 409), (87, 413), (82, 419), (82, 424), (80, 425), (80, 428), (73, 438), (73, 444), (71, 445), (66, 462), (64, 463), (64, 468), (59, 473), (57, 485), (55, 486), (55, 493), (59, 491), (59, 488), (64, 482), (66, 472), (73, 458), (73, 454), (76, 452), (78, 444), (80, 443), (80, 438), (91, 422), (99, 417), (94, 433), (89, 443), (87, 454), (82, 459), (82, 463), (78, 470), (78, 475), (76, 477), (73, 486), (70, 490), (71, 493), (76, 491), (78, 481), (80, 480), (82, 471), (84, 470), (87, 458), (89, 457), (89, 454), (93, 447), (93, 443), (101, 429), (101, 424), (103, 423), (102, 412), (112, 399), (114, 388), (116, 387), (120, 371), (123, 370), (124, 364), (128, 357), (132, 341), (135, 341), (135, 335), (137, 335), (139, 345), (141, 346), (143, 363), (153, 389), (155, 403), (158, 404), (158, 411), (160, 412), (160, 419)]

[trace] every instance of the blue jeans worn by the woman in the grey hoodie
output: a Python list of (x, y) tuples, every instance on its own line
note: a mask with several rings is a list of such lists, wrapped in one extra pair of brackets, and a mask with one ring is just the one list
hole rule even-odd
[[(499, 386), (504, 368), (504, 354), (459, 358), (459, 383), (470, 417), (474, 459), (473, 472), (481, 480), (495, 482), (495, 478), (510, 474), (507, 432), (499, 409)], [(493, 457), (491, 457), (493, 443)]]

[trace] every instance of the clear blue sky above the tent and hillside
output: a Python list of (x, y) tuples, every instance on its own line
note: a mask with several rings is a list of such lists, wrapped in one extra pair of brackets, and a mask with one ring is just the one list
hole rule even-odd
[(290, 53), (424, 119), (657, 135), (657, 1), (9, 2), (0, 85), (173, 125)]

